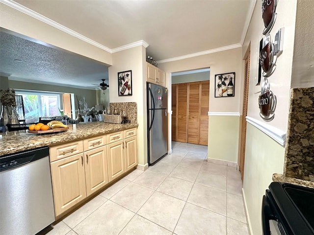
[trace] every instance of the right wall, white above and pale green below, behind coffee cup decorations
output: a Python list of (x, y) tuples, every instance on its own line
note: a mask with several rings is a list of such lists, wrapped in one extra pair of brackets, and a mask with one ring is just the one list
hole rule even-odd
[[(258, 77), (259, 43), (262, 38), (263, 22), (261, 1), (257, 1), (253, 16), (242, 47), (242, 58), (250, 50), (250, 82), (248, 116), (281, 131), (287, 131), (289, 93), (293, 57), (293, 39), (296, 15), (296, 0), (280, 0), (277, 5), (277, 19), (271, 30), (274, 40), (279, 28), (285, 27), (283, 53), (277, 59), (277, 68), (268, 78), (270, 90), (277, 96), (275, 118), (265, 122), (259, 116), (258, 96), (261, 91), (256, 86)], [(283, 173), (285, 148), (265, 135), (257, 127), (247, 123), (243, 192), (252, 234), (262, 235), (261, 206), (262, 195), (272, 182), (273, 173)]]

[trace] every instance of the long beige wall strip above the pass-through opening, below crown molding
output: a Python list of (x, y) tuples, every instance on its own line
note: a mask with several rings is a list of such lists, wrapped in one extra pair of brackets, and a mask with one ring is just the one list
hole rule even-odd
[(80, 55), (112, 64), (111, 54), (55, 27), (0, 3), (0, 26)]

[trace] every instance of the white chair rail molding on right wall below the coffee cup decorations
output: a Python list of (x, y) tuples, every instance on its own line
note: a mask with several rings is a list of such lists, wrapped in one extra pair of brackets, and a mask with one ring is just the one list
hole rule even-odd
[(280, 145), (285, 147), (286, 136), (287, 136), (286, 132), (284, 132), (284, 131), (276, 128), (276, 127), (273, 127), (271, 125), (268, 125), (266, 123), (263, 123), (262, 121), (259, 121), (259, 120), (255, 119), (255, 118), (251, 118), (249, 116), (246, 116), (245, 118), (246, 118), (246, 121), (248, 123), (250, 123), (253, 126), (255, 126), (256, 128), (260, 129), (267, 136), (269, 136), (274, 141), (278, 142)]

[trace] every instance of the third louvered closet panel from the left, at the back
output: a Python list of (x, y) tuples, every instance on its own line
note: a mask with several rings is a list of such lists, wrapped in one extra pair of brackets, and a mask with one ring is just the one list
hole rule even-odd
[(188, 89), (187, 142), (199, 143), (200, 82), (190, 82)]

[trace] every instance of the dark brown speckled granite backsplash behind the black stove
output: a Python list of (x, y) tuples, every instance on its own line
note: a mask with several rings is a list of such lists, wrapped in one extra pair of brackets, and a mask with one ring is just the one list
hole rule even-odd
[(314, 181), (314, 87), (291, 90), (284, 172)]

